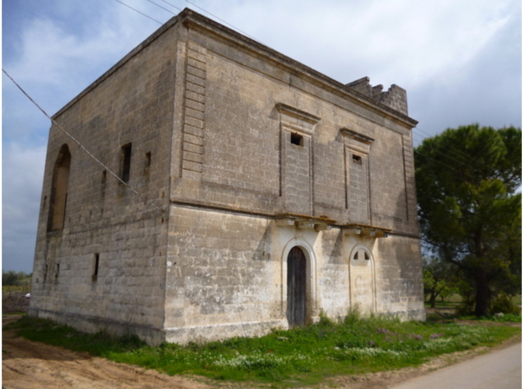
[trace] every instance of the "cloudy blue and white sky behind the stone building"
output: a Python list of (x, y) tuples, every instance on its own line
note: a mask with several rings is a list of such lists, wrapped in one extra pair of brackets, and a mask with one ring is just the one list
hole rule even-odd
[[(186, 7), (341, 83), (406, 89), (415, 146), (521, 127), (520, 0), (8, 0), (2, 68), (53, 115)], [(4, 271), (32, 272), (49, 128), (2, 74)]]

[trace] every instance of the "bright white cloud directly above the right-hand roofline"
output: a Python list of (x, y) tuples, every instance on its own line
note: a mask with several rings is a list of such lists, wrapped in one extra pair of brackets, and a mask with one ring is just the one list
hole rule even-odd
[(412, 88), (469, 63), (516, 4), (270, 0), (207, 1), (203, 8), (337, 81), (369, 75), (372, 83)]

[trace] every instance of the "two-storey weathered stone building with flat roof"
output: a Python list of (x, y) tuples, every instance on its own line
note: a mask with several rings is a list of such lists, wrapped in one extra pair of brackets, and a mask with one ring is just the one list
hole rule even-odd
[(53, 119), (30, 315), (149, 343), (424, 320), (402, 88), (186, 9)]

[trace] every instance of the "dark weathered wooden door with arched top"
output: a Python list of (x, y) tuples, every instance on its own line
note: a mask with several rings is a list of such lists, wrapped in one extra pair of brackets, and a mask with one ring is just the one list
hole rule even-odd
[(295, 246), (288, 254), (288, 309), (290, 327), (306, 324), (306, 257)]

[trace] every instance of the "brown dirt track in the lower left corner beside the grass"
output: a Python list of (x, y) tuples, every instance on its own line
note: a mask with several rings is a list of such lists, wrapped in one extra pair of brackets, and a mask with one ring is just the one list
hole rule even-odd
[[(7, 321), (18, 317), (7, 317)], [(2, 318), (6, 324), (6, 317)], [(91, 357), (2, 332), (2, 386), (5, 389), (198, 389), (203, 383), (169, 377), (124, 363)]]

